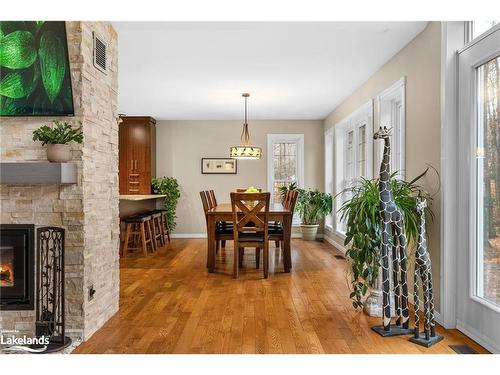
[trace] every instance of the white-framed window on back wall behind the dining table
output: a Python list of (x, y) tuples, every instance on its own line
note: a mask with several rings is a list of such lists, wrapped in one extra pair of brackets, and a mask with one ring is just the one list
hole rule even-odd
[[(304, 186), (304, 134), (268, 134), (267, 155), (267, 188), (271, 203), (279, 203), (280, 187), (292, 182)], [(299, 218), (293, 223), (299, 224)]]

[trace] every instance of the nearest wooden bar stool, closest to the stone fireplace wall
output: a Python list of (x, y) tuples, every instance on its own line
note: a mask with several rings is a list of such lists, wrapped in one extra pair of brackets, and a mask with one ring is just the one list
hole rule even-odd
[[(151, 251), (155, 252), (153, 234), (151, 232), (151, 215), (133, 215), (125, 218), (126, 232), (125, 242), (123, 244), (123, 256), (126, 256), (129, 250), (142, 250), (144, 256), (148, 255), (148, 245)], [(132, 236), (132, 238), (131, 238)], [(134, 247), (129, 246), (130, 240)], [(136, 246), (137, 241), (140, 241), (140, 246)]]

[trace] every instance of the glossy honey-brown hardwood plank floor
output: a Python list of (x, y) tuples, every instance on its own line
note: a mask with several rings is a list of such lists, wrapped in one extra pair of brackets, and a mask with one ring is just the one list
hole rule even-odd
[(457, 330), (432, 348), (408, 337), (382, 338), (380, 324), (355, 311), (348, 298), (347, 263), (327, 243), (292, 241), (293, 269), (271, 247), (269, 279), (247, 249), (240, 279), (232, 278), (232, 244), (206, 271), (206, 241), (175, 239), (168, 248), (121, 261), (120, 310), (74, 353), (454, 353)]

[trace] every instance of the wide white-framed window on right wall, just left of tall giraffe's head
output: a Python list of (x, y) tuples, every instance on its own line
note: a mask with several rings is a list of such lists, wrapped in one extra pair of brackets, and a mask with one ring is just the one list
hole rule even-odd
[[(334, 196), (354, 186), (361, 177), (371, 178), (373, 176), (373, 141), (369, 137), (373, 130), (372, 119), (373, 105), (369, 101), (333, 128), (335, 147), (332, 152), (334, 154), (332, 164), (335, 165), (335, 184), (332, 183), (332, 186), (335, 189), (330, 191)], [(327, 167), (326, 163), (325, 167)], [(327, 180), (325, 179), (325, 181)], [(345, 234), (346, 227), (345, 223), (340, 221), (338, 210), (349, 198), (348, 193), (340, 194), (334, 202), (335, 229), (340, 235)]]

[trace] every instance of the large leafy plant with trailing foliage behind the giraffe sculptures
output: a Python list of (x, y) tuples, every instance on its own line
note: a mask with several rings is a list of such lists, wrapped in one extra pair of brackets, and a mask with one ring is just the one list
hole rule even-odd
[[(405, 232), (408, 243), (415, 243), (418, 235), (419, 214), (416, 198), (424, 197), (432, 201), (430, 194), (416, 182), (427, 170), (410, 182), (398, 180), (396, 173), (391, 176), (390, 184), (396, 206), (404, 216)], [(349, 197), (341, 205), (340, 220), (346, 223), (346, 256), (351, 265), (350, 298), (355, 308), (363, 306), (363, 297), (370, 287), (376, 285), (380, 267), (380, 216), (378, 179), (364, 179), (355, 186), (337, 195)], [(344, 197), (345, 197), (344, 196)], [(336, 198), (337, 198), (336, 197)], [(427, 208), (429, 216), (433, 214)], [(392, 241), (392, 238), (391, 238)]]

